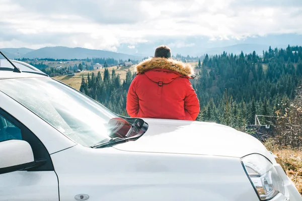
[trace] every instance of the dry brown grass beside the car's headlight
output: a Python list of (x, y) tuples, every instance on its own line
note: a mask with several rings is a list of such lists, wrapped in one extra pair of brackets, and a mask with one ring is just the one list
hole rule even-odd
[(282, 161), (286, 174), (293, 181), (296, 188), (302, 195), (302, 150), (280, 149), (267, 141), (264, 145)]

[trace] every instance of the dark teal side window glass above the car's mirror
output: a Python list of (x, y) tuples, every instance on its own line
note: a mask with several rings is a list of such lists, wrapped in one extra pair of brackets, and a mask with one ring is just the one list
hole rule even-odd
[(0, 142), (22, 140), (21, 129), (0, 115)]

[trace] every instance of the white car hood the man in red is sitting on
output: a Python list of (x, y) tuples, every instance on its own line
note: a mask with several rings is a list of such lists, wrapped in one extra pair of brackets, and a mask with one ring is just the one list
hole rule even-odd
[(243, 157), (258, 153), (272, 158), (264, 145), (251, 135), (215, 123), (144, 119), (147, 132), (136, 141), (114, 148), (132, 152), (201, 154)]

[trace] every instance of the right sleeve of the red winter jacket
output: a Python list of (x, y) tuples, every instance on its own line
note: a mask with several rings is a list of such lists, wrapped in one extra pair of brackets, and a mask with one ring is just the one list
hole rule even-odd
[(195, 121), (200, 111), (199, 100), (189, 79), (187, 79), (186, 86), (187, 94), (185, 97), (185, 111), (187, 111), (192, 120)]

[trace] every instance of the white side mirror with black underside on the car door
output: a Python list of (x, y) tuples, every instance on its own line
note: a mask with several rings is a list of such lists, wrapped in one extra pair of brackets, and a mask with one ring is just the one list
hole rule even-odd
[(0, 142), (0, 174), (24, 170), (34, 164), (34, 154), (28, 142), (23, 140)]

